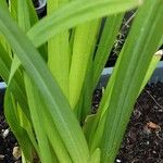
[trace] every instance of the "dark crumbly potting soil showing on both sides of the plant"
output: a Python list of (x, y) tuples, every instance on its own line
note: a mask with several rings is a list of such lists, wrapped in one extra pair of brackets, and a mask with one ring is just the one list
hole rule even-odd
[[(101, 90), (96, 90), (92, 113), (100, 99)], [(12, 154), (16, 146), (1, 110), (0, 163), (20, 162)], [(163, 163), (163, 83), (147, 86), (138, 98), (115, 163)]]

